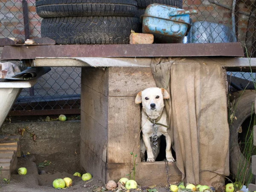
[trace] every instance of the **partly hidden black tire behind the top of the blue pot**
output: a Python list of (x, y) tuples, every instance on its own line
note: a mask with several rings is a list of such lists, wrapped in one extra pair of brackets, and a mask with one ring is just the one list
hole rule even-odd
[(182, 9), (182, 0), (137, 0), (139, 9), (146, 9), (148, 5), (159, 3), (163, 5), (175, 6)]

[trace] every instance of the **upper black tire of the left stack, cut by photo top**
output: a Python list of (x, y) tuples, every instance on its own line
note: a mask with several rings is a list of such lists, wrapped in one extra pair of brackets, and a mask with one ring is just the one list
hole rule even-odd
[(36, 12), (42, 18), (73, 16), (133, 17), (136, 0), (37, 0)]

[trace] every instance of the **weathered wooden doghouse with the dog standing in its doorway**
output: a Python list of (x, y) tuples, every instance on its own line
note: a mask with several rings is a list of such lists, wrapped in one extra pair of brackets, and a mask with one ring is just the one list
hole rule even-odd
[[(134, 100), (148, 87), (156, 87), (150, 66), (82, 68), (81, 165), (87, 172), (103, 181), (127, 177), (133, 151), (140, 185), (167, 184), (164, 161), (140, 158), (140, 105)], [(168, 165), (170, 183), (180, 182), (176, 163)]]

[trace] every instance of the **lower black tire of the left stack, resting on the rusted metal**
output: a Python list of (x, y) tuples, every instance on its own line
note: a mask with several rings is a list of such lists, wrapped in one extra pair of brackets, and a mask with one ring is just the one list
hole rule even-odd
[(57, 44), (128, 44), (135, 17), (52, 17), (42, 20), (41, 35)]

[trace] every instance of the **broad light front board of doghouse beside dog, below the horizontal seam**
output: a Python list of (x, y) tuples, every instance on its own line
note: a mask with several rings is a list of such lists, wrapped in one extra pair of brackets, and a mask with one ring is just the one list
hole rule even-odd
[(140, 162), (140, 105), (134, 99), (108, 98), (108, 163), (130, 163), (133, 150)]

